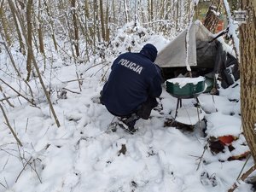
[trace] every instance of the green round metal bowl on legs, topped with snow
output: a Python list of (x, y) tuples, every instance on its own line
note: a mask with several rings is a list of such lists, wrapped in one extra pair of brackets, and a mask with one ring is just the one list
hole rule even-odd
[(205, 78), (175, 78), (166, 80), (166, 91), (177, 98), (193, 98), (205, 90)]

